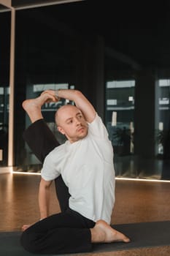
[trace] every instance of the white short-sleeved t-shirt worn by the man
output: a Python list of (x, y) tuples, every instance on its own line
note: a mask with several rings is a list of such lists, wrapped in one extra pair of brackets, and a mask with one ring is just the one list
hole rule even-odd
[(88, 135), (69, 140), (56, 147), (45, 158), (42, 178), (51, 181), (59, 175), (69, 187), (69, 207), (96, 222), (110, 223), (115, 203), (115, 170), (113, 149), (107, 129), (96, 114), (88, 124)]

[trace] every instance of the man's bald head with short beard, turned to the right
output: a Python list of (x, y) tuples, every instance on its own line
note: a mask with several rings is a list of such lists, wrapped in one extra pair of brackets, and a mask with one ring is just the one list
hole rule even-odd
[(82, 112), (73, 105), (64, 105), (58, 110), (55, 117), (58, 124), (58, 131), (74, 143), (85, 138), (88, 134), (88, 124)]

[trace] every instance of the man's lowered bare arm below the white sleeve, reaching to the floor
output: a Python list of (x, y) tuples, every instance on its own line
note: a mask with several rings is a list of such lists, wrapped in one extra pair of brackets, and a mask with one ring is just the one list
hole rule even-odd
[(41, 179), (39, 184), (39, 212), (40, 219), (45, 219), (49, 216), (50, 211), (50, 186), (52, 181)]

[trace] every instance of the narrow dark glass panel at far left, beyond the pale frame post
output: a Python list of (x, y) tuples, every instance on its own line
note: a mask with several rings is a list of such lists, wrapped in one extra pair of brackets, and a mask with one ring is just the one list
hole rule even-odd
[(0, 166), (7, 166), (9, 117), (10, 12), (0, 8)]

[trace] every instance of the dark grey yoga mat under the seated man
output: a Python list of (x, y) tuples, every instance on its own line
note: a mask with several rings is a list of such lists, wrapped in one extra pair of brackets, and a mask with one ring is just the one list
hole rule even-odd
[[(93, 253), (96, 253), (96, 255), (98, 252), (114, 252), (153, 246), (170, 246), (170, 221), (130, 223), (112, 225), (112, 227), (131, 238), (131, 242), (128, 244), (120, 242), (112, 244), (94, 244)], [(20, 234), (21, 232), (0, 233), (1, 256), (36, 256), (36, 254), (26, 252), (23, 247), (20, 246)]]

